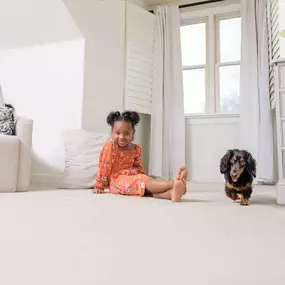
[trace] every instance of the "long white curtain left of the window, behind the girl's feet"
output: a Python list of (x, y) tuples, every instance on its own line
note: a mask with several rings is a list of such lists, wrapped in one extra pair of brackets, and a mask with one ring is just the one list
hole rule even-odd
[(149, 175), (173, 179), (185, 164), (185, 118), (177, 6), (155, 9), (155, 79)]

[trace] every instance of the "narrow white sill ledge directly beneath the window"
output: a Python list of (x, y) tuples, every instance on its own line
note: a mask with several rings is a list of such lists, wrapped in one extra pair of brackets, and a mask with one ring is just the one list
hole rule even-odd
[(200, 124), (237, 124), (239, 114), (185, 114), (187, 125)]

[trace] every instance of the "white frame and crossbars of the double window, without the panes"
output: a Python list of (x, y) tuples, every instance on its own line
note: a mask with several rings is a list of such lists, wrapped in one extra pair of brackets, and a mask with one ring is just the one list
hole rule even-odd
[[(206, 6), (206, 7), (205, 7)], [(219, 67), (229, 65), (239, 65), (240, 61), (220, 63), (220, 38), (219, 21), (240, 17), (240, 3), (216, 5), (202, 5), (194, 10), (187, 8), (180, 9), (180, 26), (206, 23), (206, 64), (205, 64), (205, 113), (192, 114), (185, 113), (188, 119), (201, 118), (209, 120), (211, 118), (238, 118), (239, 113), (221, 113), (220, 112), (220, 87), (219, 87)], [(203, 21), (202, 21), (203, 20)], [(197, 66), (198, 67), (198, 66)], [(188, 68), (188, 67), (186, 67)], [(183, 70), (186, 70), (183, 66)], [(201, 65), (202, 68), (202, 65)], [(193, 69), (193, 68), (192, 68)]]

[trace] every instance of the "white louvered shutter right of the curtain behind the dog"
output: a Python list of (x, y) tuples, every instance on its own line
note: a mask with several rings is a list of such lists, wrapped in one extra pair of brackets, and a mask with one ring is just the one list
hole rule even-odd
[[(280, 57), (279, 45), (279, 0), (268, 0), (268, 43), (270, 59)], [(271, 102), (275, 99), (274, 68), (270, 65), (269, 69), (269, 94)]]

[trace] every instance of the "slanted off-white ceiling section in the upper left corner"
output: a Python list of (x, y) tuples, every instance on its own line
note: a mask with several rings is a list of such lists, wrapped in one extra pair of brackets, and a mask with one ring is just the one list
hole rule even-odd
[(61, 0), (0, 0), (0, 50), (82, 38)]

